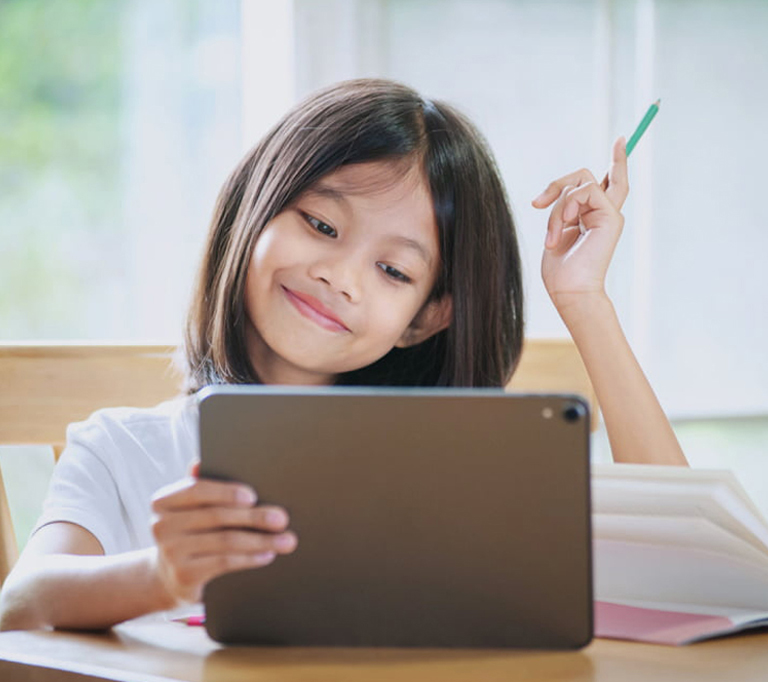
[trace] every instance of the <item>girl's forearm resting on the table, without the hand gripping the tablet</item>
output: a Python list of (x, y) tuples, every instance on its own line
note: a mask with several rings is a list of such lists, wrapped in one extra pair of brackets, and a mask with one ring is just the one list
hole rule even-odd
[(154, 569), (156, 551), (34, 557), (3, 586), (0, 630), (104, 629), (174, 607)]

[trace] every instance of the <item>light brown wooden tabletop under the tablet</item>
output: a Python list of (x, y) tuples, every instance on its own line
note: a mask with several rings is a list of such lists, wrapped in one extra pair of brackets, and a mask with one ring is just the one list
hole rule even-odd
[(2, 682), (750, 682), (768, 633), (687, 647), (595, 640), (578, 652), (222, 647), (203, 628), (137, 620), (108, 633), (0, 633)]

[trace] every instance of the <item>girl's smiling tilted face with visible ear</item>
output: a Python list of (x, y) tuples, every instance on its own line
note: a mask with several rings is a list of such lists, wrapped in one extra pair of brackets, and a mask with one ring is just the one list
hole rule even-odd
[(267, 223), (251, 256), (246, 336), (261, 380), (330, 384), (447, 327), (450, 300), (427, 303), (439, 254), (418, 169), (326, 175)]

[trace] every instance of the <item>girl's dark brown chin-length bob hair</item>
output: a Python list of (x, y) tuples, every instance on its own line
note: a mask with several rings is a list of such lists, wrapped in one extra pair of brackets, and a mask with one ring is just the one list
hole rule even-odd
[(523, 342), (520, 254), (512, 212), (487, 144), (452, 107), (409, 87), (359, 79), (289, 111), (229, 176), (216, 202), (187, 318), (187, 390), (261, 383), (246, 348), (244, 287), (265, 225), (323, 176), (347, 164), (407, 161), (427, 183), (441, 269), (430, 300), (453, 298), (450, 326), (340, 374), (375, 386), (506, 384)]

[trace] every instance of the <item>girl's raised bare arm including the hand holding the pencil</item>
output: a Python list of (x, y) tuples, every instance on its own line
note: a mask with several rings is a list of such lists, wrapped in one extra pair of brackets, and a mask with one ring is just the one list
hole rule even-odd
[(592, 380), (614, 461), (686, 466), (605, 292), (629, 192), (625, 144), (619, 138), (613, 146), (607, 188), (583, 169), (555, 180), (533, 200), (536, 208), (552, 206), (542, 276)]

